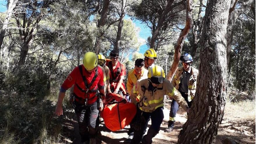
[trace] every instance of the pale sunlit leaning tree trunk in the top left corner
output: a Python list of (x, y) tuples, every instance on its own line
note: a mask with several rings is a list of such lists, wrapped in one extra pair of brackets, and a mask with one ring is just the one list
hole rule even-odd
[(6, 28), (8, 27), (9, 19), (13, 15), (13, 8), (16, 6), (16, 3), (17, 3), (17, 0), (10, 0), (9, 1), (7, 14), (6, 14), (6, 17), (4, 19), (3, 27), (2, 27), (2, 30), (1, 30), (1, 33), (0, 33), (0, 50), (1, 50), (1, 47), (3, 45), (3, 38), (4, 38), (4, 35), (6, 33)]

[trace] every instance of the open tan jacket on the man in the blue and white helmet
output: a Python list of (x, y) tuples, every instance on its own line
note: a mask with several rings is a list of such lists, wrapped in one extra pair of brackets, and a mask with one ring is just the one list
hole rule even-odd
[[(177, 71), (175, 72), (175, 75), (173, 77), (172, 84), (173, 86), (178, 90), (179, 89), (179, 83), (181, 80), (181, 76), (184, 72), (183, 67), (179, 67)], [(191, 66), (191, 76), (189, 78), (189, 90), (188, 90), (188, 100), (189, 102), (195, 97), (195, 89), (196, 89), (196, 82), (198, 77), (198, 70)]]

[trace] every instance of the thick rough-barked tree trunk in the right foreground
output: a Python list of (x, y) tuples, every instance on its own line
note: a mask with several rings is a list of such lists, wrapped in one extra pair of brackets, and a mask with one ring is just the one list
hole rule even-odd
[(215, 143), (226, 99), (226, 36), (230, 1), (207, 2), (196, 93), (178, 143)]

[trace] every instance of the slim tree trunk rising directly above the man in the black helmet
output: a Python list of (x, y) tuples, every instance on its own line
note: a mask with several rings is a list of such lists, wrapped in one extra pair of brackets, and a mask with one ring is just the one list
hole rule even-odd
[(115, 50), (119, 51), (120, 48), (120, 42), (121, 42), (121, 35), (122, 35), (122, 27), (123, 27), (123, 23), (124, 23), (124, 18), (125, 18), (125, 5), (126, 5), (127, 0), (122, 0), (122, 9), (121, 9), (121, 13), (120, 13), (120, 20), (118, 23), (118, 29), (117, 29), (117, 35), (116, 35), (116, 39), (115, 39)]

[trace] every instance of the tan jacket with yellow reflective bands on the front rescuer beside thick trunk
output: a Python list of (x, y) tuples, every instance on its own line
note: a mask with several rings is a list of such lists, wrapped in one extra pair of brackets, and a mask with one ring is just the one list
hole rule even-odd
[[(149, 80), (143, 79), (136, 83), (131, 93), (131, 102), (137, 104), (136, 97), (139, 97), (139, 109), (145, 112), (153, 112), (163, 106), (164, 95), (174, 98), (177, 103), (186, 111), (188, 104), (182, 95), (176, 90), (167, 79), (157, 86), (154, 91), (149, 91)], [(143, 90), (144, 89), (144, 90)]]

